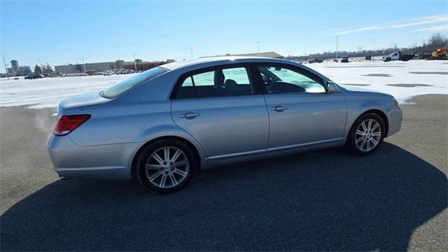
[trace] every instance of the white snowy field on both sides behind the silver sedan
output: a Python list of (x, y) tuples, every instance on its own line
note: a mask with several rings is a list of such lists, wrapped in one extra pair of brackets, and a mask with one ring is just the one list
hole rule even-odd
[[(420, 94), (448, 94), (448, 61), (324, 62), (307, 66), (342, 86), (357, 86), (393, 94), (401, 104)], [(0, 106), (29, 109), (56, 107), (66, 97), (100, 91), (133, 74), (79, 76), (36, 80), (0, 79)]]

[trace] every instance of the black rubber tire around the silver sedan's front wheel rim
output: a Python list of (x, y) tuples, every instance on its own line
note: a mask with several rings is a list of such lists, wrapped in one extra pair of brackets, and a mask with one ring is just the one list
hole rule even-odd
[[(363, 122), (368, 122), (370, 119), (372, 119), (374, 121), (376, 121), (377, 123), (379, 123), (379, 127), (381, 129), (381, 134), (380, 136), (376, 137), (376, 139), (374, 139), (374, 137), (372, 137), (372, 134), (378, 134), (377, 129), (375, 129), (375, 132), (372, 133), (372, 131), (370, 131), (370, 139), (371, 140), (367, 140), (365, 142), (366, 143), (373, 143), (374, 141), (377, 141), (376, 146), (374, 146), (374, 148), (371, 148), (370, 150), (363, 150), (360, 148), (360, 146), (358, 146), (356, 144), (356, 140), (363, 138), (363, 135), (357, 134), (357, 130), (360, 126), (361, 123)], [(384, 127), (384, 120), (381, 118), (381, 116), (379, 116), (377, 113), (365, 113), (363, 115), (361, 115), (358, 119), (356, 119), (355, 123), (353, 123), (353, 125), (351, 126), (350, 132), (349, 132), (349, 136), (347, 137), (347, 141), (346, 141), (346, 148), (350, 153), (353, 153), (355, 155), (370, 155), (371, 153), (373, 153), (374, 151), (377, 151), (377, 149), (379, 148), (379, 146), (381, 146), (381, 143), (383, 142), (384, 139), (384, 134), (385, 134), (385, 129), (386, 127)], [(358, 138), (357, 138), (358, 136)], [(365, 139), (369, 139), (368, 134), (364, 137)], [(372, 140), (373, 139), (373, 140)], [(363, 144), (363, 139), (360, 139), (360, 145)]]

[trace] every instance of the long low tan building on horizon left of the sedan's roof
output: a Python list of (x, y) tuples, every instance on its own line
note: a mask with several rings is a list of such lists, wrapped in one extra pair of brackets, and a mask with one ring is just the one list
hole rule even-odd
[[(85, 71), (95, 71), (97, 73), (108, 71), (108, 70), (118, 70), (118, 69), (132, 69), (134, 70), (137, 66), (137, 71), (144, 71), (151, 69), (155, 66), (160, 66), (167, 62), (144, 62), (141, 59), (136, 59), (134, 62), (125, 62), (124, 60), (116, 60), (115, 62), (97, 62), (97, 63), (85, 63)], [(84, 73), (83, 64), (66, 64), (55, 66), (55, 71), (57, 73)]]

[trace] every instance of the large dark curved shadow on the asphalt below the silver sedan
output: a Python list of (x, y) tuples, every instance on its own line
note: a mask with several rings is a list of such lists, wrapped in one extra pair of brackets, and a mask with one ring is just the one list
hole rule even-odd
[(56, 181), (1, 216), (1, 251), (405, 251), (447, 208), (447, 176), (384, 142), (196, 174), (153, 195), (135, 181)]

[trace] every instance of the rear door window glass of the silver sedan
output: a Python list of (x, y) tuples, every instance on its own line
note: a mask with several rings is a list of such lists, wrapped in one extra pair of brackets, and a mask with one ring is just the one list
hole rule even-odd
[(186, 78), (177, 98), (225, 97), (253, 94), (248, 70), (245, 67), (215, 69)]

